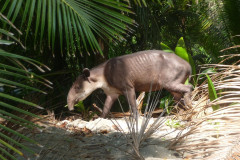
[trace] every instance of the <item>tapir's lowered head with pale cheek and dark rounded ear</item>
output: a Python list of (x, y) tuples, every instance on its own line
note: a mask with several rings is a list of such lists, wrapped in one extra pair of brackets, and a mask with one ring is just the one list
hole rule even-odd
[(78, 76), (68, 92), (68, 109), (74, 110), (74, 105), (87, 98), (95, 89), (97, 89), (97, 79), (91, 76), (88, 68), (83, 69), (83, 74)]

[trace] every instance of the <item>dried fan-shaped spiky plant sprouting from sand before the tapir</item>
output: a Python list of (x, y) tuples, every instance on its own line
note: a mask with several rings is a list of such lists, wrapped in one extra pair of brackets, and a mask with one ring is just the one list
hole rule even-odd
[[(133, 112), (130, 107), (130, 116), (129, 117), (124, 117), (124, 120), (126, 122), (126, 125), (128, 127), (128, 133), (125, 133), (123, 129), (121, 128), (121, 125), (116, 121), (112, 120), (112, 123), (117, 126), (119, 131), (122, 133), (122, 135), (126, 138), (127, 143), (132, 147), (133, 151), (133, 157), (135, 159), (141, 159), (144, 160), (144, 157), (141, 155), (139, 149), (142, 145), (142, 143), (149, 138), (153, 133), (155, 133), (159, 128), (161, 128), (165, 122), (167, 121), (168, 117), (163, 117), (163, 115), (167, 111), (167, 107), (165, 106), (165, 109), (162, 111), (162, 113), (153, 120), (151, 121), (152, 115), (154, 110), (159, 104), (159, 98), (161, 95), (161, 90), (156, 92), (154, 96), (151, 96), (151, 90), (150, 93), (148, 94), (148, 99), (147, 99), (147, 105), (144, 109), (144, 113), (142, 116), (137, 115), (137, 117), (133, 116)], [(137, 99), (137, 104), (141, 105), (141, 101), (143, 101), (145, 92), (142, 92), (138, 99)], [(123, 115), (125, 115), (123, 111), (123, 107), (121, 105), (121, 102), (119, 101), (119, 104), (121, 106)], [(139, 106), (138, 106), (139, 108)], [(140, 112), (141, 113), (141, 112)]]

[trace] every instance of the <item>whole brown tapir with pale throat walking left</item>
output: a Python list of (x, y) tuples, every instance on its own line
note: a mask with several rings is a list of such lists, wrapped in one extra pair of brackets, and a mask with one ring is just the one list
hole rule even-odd
[(102, 117), (109, 113), (113, 103), (124, 95), (134, 114), (137, 114), (136, 92), (166, 89), (176, 101), (184, 97), (191, 106), (191, 85), (185, 81), (191, 76), (191, 66), (174, 53), (161, 50), (146, 50), (107, 60), (89, 70), (83, 69), (69, 90), (69, 110), (78, 101), (87, 98), (94, 90), (101, 88), (106, 94)]

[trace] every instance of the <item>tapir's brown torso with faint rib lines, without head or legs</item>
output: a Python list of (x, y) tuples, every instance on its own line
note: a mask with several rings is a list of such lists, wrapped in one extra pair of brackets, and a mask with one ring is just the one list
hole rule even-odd
[(149, 91), (151, 84), (153, 88), (162, 87), (174, 80), (176, 74), (189, 76), (190, 72), (190, 65), (177, 55), (147, 50), (110, 59), (104, 74), (109, 85), (119, 90), (133, 87), (137, 91)]

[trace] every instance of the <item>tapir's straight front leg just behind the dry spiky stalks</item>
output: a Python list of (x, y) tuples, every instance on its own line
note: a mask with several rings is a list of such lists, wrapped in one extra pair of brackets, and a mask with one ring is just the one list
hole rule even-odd
[(131, 88), (131, 89), (126, 90), (123, 94), (127, 98), (128, 104), (131, 106), (134, 117), (136, 117), (138, 111), (137, 111), (135, 90), (133, 88)]

